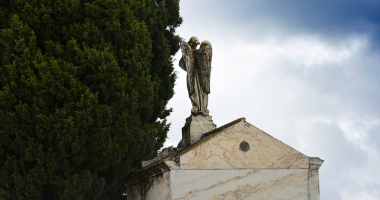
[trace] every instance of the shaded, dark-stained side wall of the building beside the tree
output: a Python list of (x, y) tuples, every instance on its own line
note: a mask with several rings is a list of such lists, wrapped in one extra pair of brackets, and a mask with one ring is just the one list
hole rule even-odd
[(169, 200), (170, 171), (127, 188), (128, 200)]

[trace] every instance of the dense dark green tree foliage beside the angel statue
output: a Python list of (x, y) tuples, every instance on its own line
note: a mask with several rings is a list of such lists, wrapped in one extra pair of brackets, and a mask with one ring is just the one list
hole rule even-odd
[(0, 199), (122, 199), (162, 147), (179, 0), (0, 1)]

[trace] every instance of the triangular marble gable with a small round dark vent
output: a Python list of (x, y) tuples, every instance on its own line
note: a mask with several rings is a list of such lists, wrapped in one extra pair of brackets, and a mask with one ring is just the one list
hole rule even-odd
[[(246, 141), (247, 152), (239, 149)], [(309, 158), (241, 121), (180, 156), (181, 169), (307, 169)]]

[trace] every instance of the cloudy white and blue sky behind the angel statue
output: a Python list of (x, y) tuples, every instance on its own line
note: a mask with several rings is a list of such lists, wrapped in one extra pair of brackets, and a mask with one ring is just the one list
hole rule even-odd
[[(380, 199), (380, 1), (181, 0), (188, 40), (213, 46), (209, 110), (217, 126), (239, 117), (320, 168), (323, 200)], [(168, 107), (165, 146), (190, 115), (186, 72)]]

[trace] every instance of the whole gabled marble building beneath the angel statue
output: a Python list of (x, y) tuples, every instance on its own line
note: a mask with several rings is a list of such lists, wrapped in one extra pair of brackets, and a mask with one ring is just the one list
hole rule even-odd
[[(141, 169), (139, 178), (127, 177), (128, 200), (319, 200), (322, 160), (307, 157), (244, 118), (230, 124)], [(246, 152), (239, 149), (243, 141), (249, 144)], [(163, 181), (157, 181), (162, 172)], [(157, 186), (141, 190), (143, 175)]]

